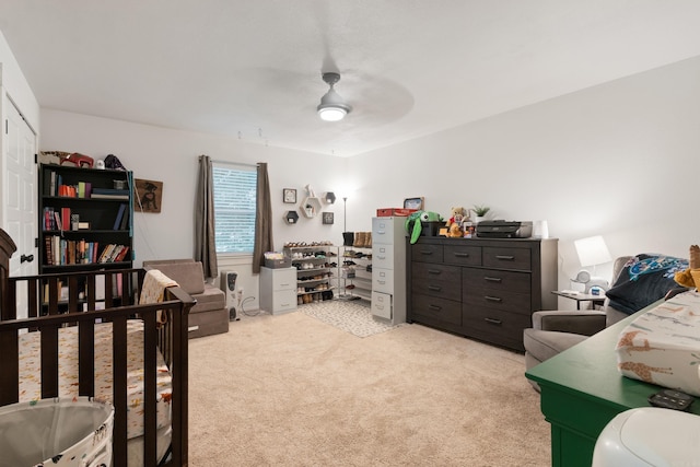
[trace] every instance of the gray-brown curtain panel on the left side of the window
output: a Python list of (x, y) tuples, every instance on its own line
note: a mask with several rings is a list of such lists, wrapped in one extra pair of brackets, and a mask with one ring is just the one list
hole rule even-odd
[(205, 278), (219, 275), (214, 240), (214, 184), (211, 159), (199, 156), (199, 180), (195, 206), (195, 259), (201, 261)]

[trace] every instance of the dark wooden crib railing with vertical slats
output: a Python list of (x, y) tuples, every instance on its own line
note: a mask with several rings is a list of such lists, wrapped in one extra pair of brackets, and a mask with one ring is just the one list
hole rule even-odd
[[(104, 275), (104, 279), (100, 276)], [(121, 275), (118, 278), (117, 275)], [(112, 323), (113, 329), (113, 433), (114, 463), (127, 465), (127, 320), (143, 322), (144, 362), (144, 439), (145, 465), (156, 465), (156, 353), (160, 351), (172, 373), (172, 460), (186, 466), (188, 434), (188, 336), (187, 317), (195, 301), (179, 288), (168, 288), (165, 301), (138, 305), (142, 269), (93, 271), (69, 275), (44, 275), (9, 278), (0, 316), (0, 406), (18, 402), (19, 336), (40, 332), (42, 397), (58, 397), (58, 329), (78, 326), (79, 394), (94, 396), (94, 328), (96, 323)], [(104, 296), (102, 281), (104, 280)], [(121, 282), (118, 288), (117, 280)], [(67, 287), (60, 290), (58, 287)], [(96, 285), (100, 284), (100, 288)], [(100, 291), (97, 293), (96, 291)], [(16, 318), (18, 304), (26, 299), (28, 317)], [(18, 300), (20, 299), (20, 300)], [(95, 307), (105, 310), (94, 310)], [(89, 311), (83, 311), (83, 310)], [(159, 324), (158, 315), (166, 316)], [(23, 314), (23, 313), (21, 313)]]

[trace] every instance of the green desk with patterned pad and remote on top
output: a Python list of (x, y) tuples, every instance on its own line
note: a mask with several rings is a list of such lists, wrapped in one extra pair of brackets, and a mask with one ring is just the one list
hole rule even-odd
[[(541, 388), (541, 411), (551, 423), (552, 466), (590, 467), (595, 441), (605, 425), (625, 410), (649, 407), (648, 397), (661, 389), (625, 377), (617, 370), (615, 346), (620, 331), (634, 316), (525, 373)], [(696, 400), (690, 411), (700, 415), (700, 402)]]

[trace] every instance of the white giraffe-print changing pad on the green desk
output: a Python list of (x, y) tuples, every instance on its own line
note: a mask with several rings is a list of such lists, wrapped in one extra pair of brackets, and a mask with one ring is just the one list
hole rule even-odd
[(684, 292), (638, 316), (616, 353), (625, 376), (700, 396), (700, 294)]

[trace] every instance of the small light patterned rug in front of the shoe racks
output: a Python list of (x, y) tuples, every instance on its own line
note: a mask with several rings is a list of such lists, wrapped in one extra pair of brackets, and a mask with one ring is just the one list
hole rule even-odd
[(308, 303), (300, 305), (298, 310), (358, 337), (369, 337), (401, 326), (375, 319), (370, 307), (359, 300)]

